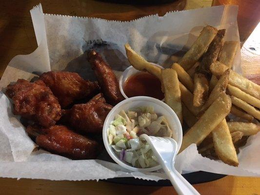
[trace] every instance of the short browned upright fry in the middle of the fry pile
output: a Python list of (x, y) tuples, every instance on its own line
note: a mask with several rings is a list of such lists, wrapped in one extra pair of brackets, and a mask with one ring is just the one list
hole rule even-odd
[(208, 98), (209, 83), (204, 74), (195, 73), (194, 75), (194, 91), (193, 105), (202, 106)]

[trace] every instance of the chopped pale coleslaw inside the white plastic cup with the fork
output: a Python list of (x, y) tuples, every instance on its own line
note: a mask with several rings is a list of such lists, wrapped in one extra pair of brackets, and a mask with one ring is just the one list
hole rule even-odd
[(111, 122), (108, 142), (120, 160), (137, 168), (157, 166), (156, 156), (141, 134), (157, 137), (172, 137), (172, 130), (164, 116), (154, 113), (152, 106), (120, 111)]

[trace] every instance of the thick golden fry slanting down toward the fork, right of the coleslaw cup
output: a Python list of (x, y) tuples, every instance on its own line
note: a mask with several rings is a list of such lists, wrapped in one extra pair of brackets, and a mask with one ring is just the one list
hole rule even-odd
[(231, 99), (229, 96), (221, 94), (200, 117), (198, 122), (183, 136), (179, 153), (192, 143), (200, 144), (228, 115), (230, 107)]

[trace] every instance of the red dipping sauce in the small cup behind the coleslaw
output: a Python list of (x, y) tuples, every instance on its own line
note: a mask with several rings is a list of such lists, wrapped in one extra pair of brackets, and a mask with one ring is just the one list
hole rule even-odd
[(124, 93), (128, 98), (135, 96), (149, 96), (163, 99), (160, 79), (146, 72), (140, 72), (129, 77), (124, 84)]

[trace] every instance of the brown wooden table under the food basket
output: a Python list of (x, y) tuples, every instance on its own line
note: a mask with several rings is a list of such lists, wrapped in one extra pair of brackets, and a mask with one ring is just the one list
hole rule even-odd
[[(29, 54), (37, 48), (29, 10), (39, 0), (1, 0), (0, 3), (0, 77), (16, 55)], [(94, 0), (41, 0), (45, 13), (91, 16), (109, 20), (133, 20), (168, 11), (210, 6), (211, 0), (178, 0), (164, 5), (127, 5)], [(243, 74), (260, 84), (260, 56), (242, 51)], [(201, 195), (257, 195), (260, 178), (226, 176), (194, 185)], [(176, 194), (172, 187), (142, 187), (96, 181), (50, 181), (42, 179), (0, 178), (3, 195), (167, 195)]]

